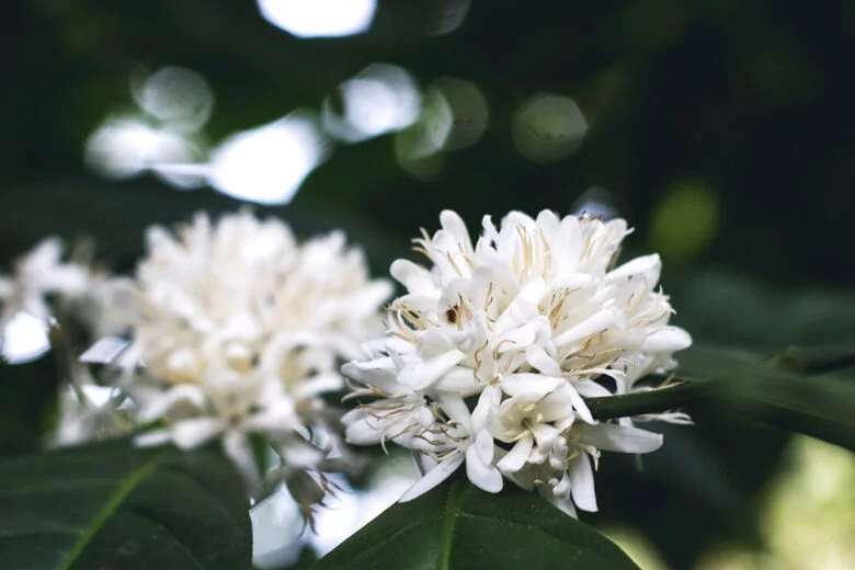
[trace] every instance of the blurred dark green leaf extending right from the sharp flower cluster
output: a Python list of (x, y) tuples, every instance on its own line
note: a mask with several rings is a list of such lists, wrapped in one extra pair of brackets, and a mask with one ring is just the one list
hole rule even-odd
[(855, 383), (832, 373), (805, 376), (732, 351), (680, 353), (682, 379), (717, 381), (714, 401), (740, 415), (855, 451)]

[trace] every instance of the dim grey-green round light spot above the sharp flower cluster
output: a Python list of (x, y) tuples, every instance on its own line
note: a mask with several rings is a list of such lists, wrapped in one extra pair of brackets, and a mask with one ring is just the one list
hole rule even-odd
[(563, 95), (535, 95), (514, 116), (514, 145), (533, 162), (549, 163), (572, 156), (585, 133), (588, 122), (581, 110)]

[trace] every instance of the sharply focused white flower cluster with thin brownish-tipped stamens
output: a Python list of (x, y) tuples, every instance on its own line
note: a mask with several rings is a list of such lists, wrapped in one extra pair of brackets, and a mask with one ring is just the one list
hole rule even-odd
[(598, 422), (584, 398), (641, 389), (636, 380), (673, 368), (692, 343), (668, 324), (659, 256), (613, 269), (623, 219), (514, 212), (497, 228), (487, 216), (475, 246), (455, 213), (440, 219), (414, 240), (430, 269), (391, 265), (407, 294), (389, 308), (388, 337), (343, 367), (364, 400), (344, 417), (346, 441), (417, 453), (425, 475), (401, 500), (465, 463), (486, 491), (509, 478), (569, 514), (595, 511), (600, 452), (648, 453), (662, 436)]

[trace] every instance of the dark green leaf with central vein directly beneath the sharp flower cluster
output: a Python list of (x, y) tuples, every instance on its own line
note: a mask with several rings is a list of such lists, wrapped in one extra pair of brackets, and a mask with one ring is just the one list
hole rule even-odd
[(315, 570), (635, 569), (612, 542), (512, 483), (499, 494), (464, 478), (396, 503)]

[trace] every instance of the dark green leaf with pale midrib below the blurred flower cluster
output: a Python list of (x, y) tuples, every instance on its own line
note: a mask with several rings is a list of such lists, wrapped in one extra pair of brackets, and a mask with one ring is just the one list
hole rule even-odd
[(0, 464), (0, 568), (249, 569), (242, 481), (216, 449), (109, 442)]

